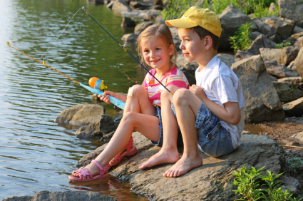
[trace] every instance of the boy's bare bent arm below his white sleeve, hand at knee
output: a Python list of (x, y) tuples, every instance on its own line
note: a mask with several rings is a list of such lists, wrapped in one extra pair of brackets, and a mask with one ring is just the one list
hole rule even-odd
[(227, 102), (224, 103), (224, 108), (216, 103), (212, 102), (212, 100), (208, 99), (205, 95), (205, 92), (202, 88), (196, 85), (192, 85), (190, 87), (190, 91), (195, 93), (195, 96), (200, 98), (202, 102), (206, 105), (208, 110), (210, 110), (217, 118), (226, 121), (227, 123), (231, 123), (233, 125), (237, 125), (237, 123), (241, 120), (241, 113), (239, 103), (237, 102)]

